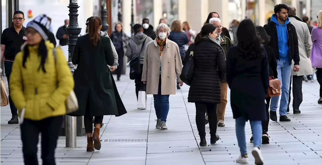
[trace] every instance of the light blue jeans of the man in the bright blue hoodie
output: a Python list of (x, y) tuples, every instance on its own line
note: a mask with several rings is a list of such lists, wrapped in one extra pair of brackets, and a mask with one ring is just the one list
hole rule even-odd
[[(289, 104), (289, 83), (291, 78), (291, 65), (289, 61), (277, 60), (277, 77), (281, 82), (281, 102), (279, 105), (279, 116), (287, 114)], [(279, 102), (279, 96), (272, 97), (270, 101), (270, 110), (276, 111)]]

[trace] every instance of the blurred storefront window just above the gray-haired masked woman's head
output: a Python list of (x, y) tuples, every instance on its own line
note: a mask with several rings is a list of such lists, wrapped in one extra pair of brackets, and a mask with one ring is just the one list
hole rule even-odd
[(178, 0), (162, 0), (163, 18), (167, 19), (167, 23), (171, 23), (178, 19)]

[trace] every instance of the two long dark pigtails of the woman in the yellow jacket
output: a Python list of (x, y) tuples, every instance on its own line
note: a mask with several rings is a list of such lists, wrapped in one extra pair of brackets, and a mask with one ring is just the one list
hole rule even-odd
[[(24, 68), (26, 68), (26, 61), (27, 61), (27, 58), (29, 57), (29, 45), (25, 45), (24, 47), (24, 56), (23, 56), (23, 63), (22, 63), (22, 66)], [(43, 70), (44, 73), (46, 73), (46, 70), (45, 70), (45, 62), (46, 62), (46, 59), (47, 59), (47, 47), (46, 47), (46, 44), (45, 44), (45, 40), (41, 40), (41, 42), (39, 43), (39, 48), (38, 48), (38, 55), (41, 56), (41, 61), (40, 61), (40, 65), (39, 65), (39, 68), (38, 70), (40, 70), (40, 68)]]

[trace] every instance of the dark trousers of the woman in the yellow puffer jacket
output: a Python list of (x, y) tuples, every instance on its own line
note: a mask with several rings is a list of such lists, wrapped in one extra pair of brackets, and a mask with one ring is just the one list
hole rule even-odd
[(41, 121), (24, 119), (20, 129), (25, 165), (38, 165), (37, 144), (39, 132), (41, 132), (41, 158), (43, 164), (56, 165), (55, 149), (62, 122), (63, 116), (50, 117)]

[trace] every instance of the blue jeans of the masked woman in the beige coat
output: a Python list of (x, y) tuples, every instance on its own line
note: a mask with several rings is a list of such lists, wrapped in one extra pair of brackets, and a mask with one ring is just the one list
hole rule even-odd
[(154, 94), (153, 98), (156, 118), (166, 122), (166, 117), (169, 113), (169, 95), (161, 95), (161, 78), (159, 79), (158, 94)]

